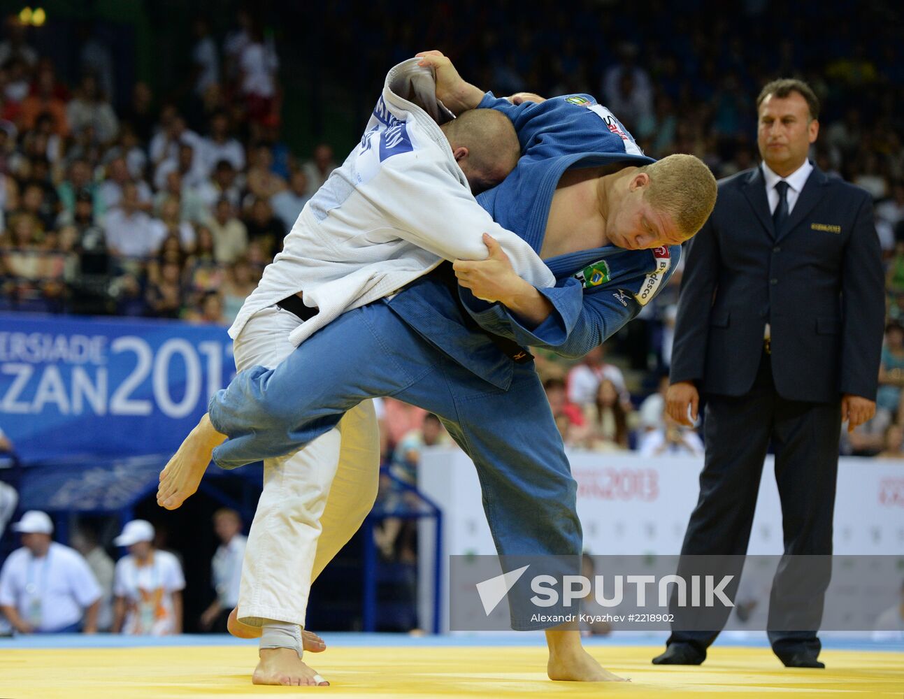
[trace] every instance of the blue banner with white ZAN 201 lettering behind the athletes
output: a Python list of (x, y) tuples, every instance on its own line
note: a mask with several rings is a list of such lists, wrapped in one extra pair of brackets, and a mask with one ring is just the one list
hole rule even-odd
[(0, 429), (25, 462), (174, 451), (234, 373), (225, 327), (0, 314)]

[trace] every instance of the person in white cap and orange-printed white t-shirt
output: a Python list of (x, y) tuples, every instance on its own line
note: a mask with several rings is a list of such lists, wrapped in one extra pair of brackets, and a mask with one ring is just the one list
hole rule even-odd
[(153, 541), (154, 526), (143, 519), (128, 522), (113, 540), (128, 549), (114, 574), (114, 633), (182, 633), (182, 566), (172, 553), (157, 551)]

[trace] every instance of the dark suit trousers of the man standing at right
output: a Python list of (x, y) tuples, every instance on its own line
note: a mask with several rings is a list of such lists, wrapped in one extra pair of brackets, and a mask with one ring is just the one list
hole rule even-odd
[[(831, 573), (832, 524), (840, 401), (788, 401), (778, 395), (769, 355), (763, 353), (757, 378), (743, 396), (706, 395), (706, 456), (700, 498), (684, 534), (682, 556), (747, 553), (759, 480), (771, 440), (782, 508), (785, 549), (769, 600), (768, 637), (777, 656), (820, 650), (816, 632)], [(778, 524), (778, 523), (776, 523)], [(824, 556), (796, 558), (796, 556)], [(726, 588), (735, 599), (735, 579)], [(813, 566), (819, 566), (815, 571)], [(679, 563), (691, 574), (692, 563)], [(818, 581), (814, 584), (814, 581)], [(668, 644), (688, 643), (705, 654), (728, 619), (730, 608), (693, 619), (691, 610), (674, 607), (676, 623)], [(704, 627), (704, 628), (701, 628)], [(789, 630), (793, 628), (793, 630)]]

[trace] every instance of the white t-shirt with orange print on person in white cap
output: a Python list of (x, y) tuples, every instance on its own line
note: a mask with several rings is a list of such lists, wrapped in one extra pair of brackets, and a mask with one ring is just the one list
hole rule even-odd
[(182, 566), (168, 551), (155, 551), (151, 561), (142, 566), (137, 565), (131, 554), (120, 558), (116, 564), (113, 594), (126, 600), (123, 633), (173, 634), (173, 593), (184, 587)]

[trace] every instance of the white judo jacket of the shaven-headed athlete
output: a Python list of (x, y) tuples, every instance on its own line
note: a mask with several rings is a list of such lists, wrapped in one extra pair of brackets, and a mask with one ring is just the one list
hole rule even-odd
[(303, 291), (318, 312), (289, 335), (299, 345), (344, 311), (391, 295), (443, 260), (485, 260), (484, 232), (523, 279), (555, 285), (531, 246), (471, 194), (438, 126), (452, 116), (436, 99), (432, 71), (418, 61), (387, 74), (361, 143), (305, 204), (241, 307), (233, 339), (259, 310)]

